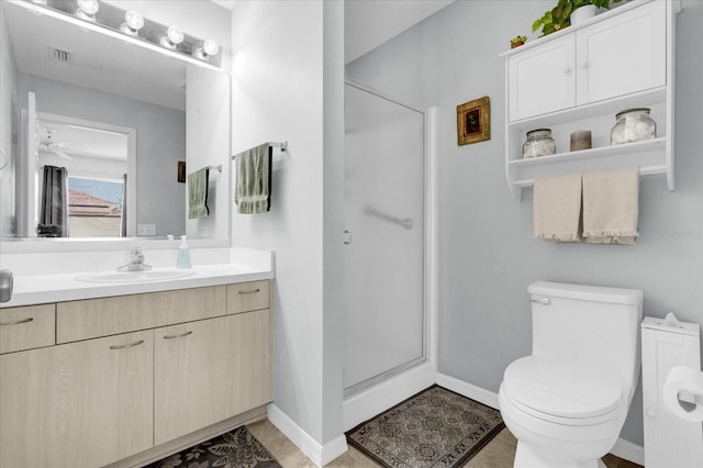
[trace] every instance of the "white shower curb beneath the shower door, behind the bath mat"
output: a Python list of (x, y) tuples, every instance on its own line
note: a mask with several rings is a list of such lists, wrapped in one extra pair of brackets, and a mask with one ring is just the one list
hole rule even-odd
[(370, 420), (435, 383), (432, 363), (421, 364), (344, 400), (344, 431)]

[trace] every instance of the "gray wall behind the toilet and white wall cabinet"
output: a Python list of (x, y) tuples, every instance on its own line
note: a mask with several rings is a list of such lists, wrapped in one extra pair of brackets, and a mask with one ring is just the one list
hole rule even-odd
[[(439, 371), (496, 392), (529, 354), (526, 287), (536, 280), (638, 288), (645, 314), (703, 323), (703, 2), (683, 1), (677, 33), (677, 190), (641, 178), (634, 247), (532, 237), (532, 190), (511, 198), (504, 174), (504, 63), (554, 1), (457, 1), (347, 66), (347, 77), (417, 105), (437, 105)], [(457, 146), (456, 105), (491, 99), (491, 141)], [(607, 326), (607, 324), (603, 324)], [(641, 388), (622, 436), (643, 444)]]

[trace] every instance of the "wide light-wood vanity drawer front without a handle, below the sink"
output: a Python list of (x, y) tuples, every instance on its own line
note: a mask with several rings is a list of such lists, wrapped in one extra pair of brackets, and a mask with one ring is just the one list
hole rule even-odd
[(56, 341), (68, 343), (226, 314), (226, 286), (60, 302)]

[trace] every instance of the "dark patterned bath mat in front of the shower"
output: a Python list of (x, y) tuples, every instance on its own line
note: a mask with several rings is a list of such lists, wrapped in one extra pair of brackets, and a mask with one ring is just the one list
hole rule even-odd
[(388, 468), (462, 466), (504, 427), (498, 410), (433, 386), (346, 433)]

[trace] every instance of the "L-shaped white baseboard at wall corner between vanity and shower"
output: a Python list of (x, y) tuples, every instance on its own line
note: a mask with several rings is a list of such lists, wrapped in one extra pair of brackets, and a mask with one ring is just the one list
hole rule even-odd
[(344, 434), (335, 437), (323, 446), (295, 424), (293, 420), (288, 417), (276, 404), (269, 404), (267, 410), (268, 420), (271, 424), (278, 427), (278, 430), (316, 466), (323, 467), (347, 452), (347, 441)]

